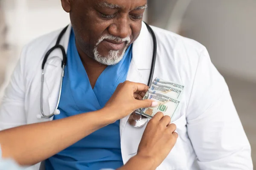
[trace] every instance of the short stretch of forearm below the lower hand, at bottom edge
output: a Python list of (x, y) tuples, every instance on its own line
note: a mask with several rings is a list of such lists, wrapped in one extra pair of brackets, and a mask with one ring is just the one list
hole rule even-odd
[(151, 158), (136, 155), (117, 170), (155, 170), (157, 165)]

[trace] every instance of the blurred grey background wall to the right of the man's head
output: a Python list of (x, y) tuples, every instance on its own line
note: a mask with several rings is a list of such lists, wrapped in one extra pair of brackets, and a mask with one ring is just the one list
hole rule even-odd
[(154, 6), (150, 23), (175, 32), (179, 27), (180, 34), (207, 47), (219, 71), (256, 82), (256, 0), (191, 0), (181, 25), (172, 20), (166, 26), (177, 2), (188, 5), (176, 1), (148, 0)]

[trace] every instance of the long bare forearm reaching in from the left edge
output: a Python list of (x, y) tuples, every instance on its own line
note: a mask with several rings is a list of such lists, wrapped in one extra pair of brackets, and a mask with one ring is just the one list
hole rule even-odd
[(36, 164), (64, 150), (114, 119), (107, 110), (70, 116), (65, 119), (24, 125), (0, 131), (3, 157), (19, 164)]

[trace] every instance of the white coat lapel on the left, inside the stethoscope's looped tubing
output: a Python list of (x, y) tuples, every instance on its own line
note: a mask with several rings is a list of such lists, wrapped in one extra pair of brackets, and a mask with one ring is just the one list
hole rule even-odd
[[(70, 38), (70, 31), (71, 31), (71, 24), (68, 26), (67, 31), (65, 32), (64, 36), (61, 38), (61, 42), (60, 42), (60, 45), (64, 46), (66, 54), (67, 54), (67, 48), (68, 48), (68, 43)], [(49, 47), (49, 49), (55, 45), (56, 40), (52, 42), (52, 45)], [(61, 77), (62, 59), (63, 59), (63, 56), (62, 56), (61, 50), (59, 48), (55, 49), (49, 55), (47, 59), (47, 63), (45, 65), (44, 80), (46, 82), (48, 93), (44, 95), (48, 96), (49, 111), (50, 111), (49, 114), (51, 114), (55, 110), (55, 107), (58, 101), (58, 94), (59, 94), (60, 84), (62, 79)]]

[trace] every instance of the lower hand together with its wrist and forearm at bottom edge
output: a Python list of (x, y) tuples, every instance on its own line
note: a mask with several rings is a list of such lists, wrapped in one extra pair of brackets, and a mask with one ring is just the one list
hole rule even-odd
[(178, 134), (170, 116), (158, 112), (143, 133), (137, 155), (118, 170), (155, 170), (174, 147)]

